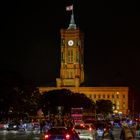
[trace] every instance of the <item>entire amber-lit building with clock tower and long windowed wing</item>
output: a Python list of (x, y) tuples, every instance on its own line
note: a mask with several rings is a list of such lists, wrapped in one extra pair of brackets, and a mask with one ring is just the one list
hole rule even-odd
[(114, 110), (128, 113), (128, 87), (80, 87), (84, 82), (84, 35), (74, 22), (72, 13), (69, 27), (61, 29), (61, 67), (56, 87), (39, 87), (41, 93), (57, 89), (69, 89), (84, 93), (96, 102), (98, 99), (111, 100)]

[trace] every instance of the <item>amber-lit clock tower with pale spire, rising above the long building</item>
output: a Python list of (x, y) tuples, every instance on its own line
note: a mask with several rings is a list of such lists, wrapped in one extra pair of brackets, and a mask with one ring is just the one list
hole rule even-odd
[(76, 27), (72, 12), (67, 29), (61, 29), (61, 66), (57, 87), (79, 87), (84, 82), (83, 33)]

